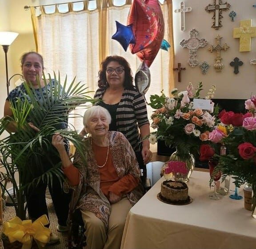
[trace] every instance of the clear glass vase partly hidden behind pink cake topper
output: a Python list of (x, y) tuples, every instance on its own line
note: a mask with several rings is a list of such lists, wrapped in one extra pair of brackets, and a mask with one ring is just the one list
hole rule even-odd
[(179, 161), (186, 163), (186, 168), (188, 169), (187, 174), (174, 173), (174, 178), (176, 181), (182, 181), (184, 183), (188, 182), (189, 177), (195, 168), (195, 157), (193, 156), (193, 154), (180, 154), (179, 151), (176, 150), (176, 152), (173, 152), (170, 156), (170, 161)]

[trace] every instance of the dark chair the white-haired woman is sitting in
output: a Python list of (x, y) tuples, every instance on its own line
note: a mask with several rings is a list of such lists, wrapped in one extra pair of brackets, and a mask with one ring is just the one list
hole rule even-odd
[[(141, 181), (144, 187), (144, 192), (147, 192), (151, 188), (150, 179), (146, 176), (145, 171), (141, 169)], [(86, 246), (84, 221), (80, 209), (76, 209), (73, 202), (70, 203), (69, 217), (67, 247), (68, 249), (83, 249)]]

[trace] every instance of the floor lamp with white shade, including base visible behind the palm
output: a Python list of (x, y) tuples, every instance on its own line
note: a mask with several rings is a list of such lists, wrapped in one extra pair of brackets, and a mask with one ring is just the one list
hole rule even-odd
[[(18, 36), (18, 33), (15, 32), (0, 32), (0, 45), (3, 46), (4, 54), (5, 54), (5, 69), (6, 69), (6, 88), (7, 88), (7, 95), (9, 94), (9, 86), (10, 81), (8, 78), (8, 63), (7, 63), (7, 52), (9, 46), (12, 44), (12, 42), (16, 39)], [(8, 196), (6, 205), (14, 206), (17, 204), (17, 198), (15, 194), (15, 190), (13, 188), (13, 200)]]

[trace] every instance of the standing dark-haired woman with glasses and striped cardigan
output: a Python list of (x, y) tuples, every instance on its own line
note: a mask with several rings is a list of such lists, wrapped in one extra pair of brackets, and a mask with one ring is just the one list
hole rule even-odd
[(119, 131), (126, 136), (136, 154), (140, 169), (146, 167), (151, 158), (149, 121), (144, 97), (132, 85), (132, 70), (121, 56), (108, 56), (101, 62), (98, 86), (94, 98), (101, 99), (97, 105), (108, 109), (111, 115), (110, 131)]

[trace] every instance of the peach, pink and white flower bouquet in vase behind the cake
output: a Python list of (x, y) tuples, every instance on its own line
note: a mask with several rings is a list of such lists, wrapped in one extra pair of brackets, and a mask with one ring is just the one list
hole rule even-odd
[(194, 105), (195, 99), (200, 99), (202, 83), (199, 82), (196, 91), (192, 93), (192, 83), (188, 84), (185, 91), (172, 90), (172, 97), (167, 97), (162, 92), (161, 96), (151, 95), (149, 105), (156, 109), (152, 114), (152, 127), (157, 128), (149, 136), (149, 142), (155, 144), (157, 140), (164, 140), (166, 146), (176, 148), (170, 160), (184, 161), (190, 172), (181, 180), (188, 180), (194, 167), (193, 154), (198, 153), (201, 143), (208, 142), (209, 133), (216, 124), (215, 115), (218, 108), (214, 108), (211, 101), (216, 86), (212, 85), (205, 97), (208, 109), (200, 109)]

